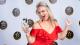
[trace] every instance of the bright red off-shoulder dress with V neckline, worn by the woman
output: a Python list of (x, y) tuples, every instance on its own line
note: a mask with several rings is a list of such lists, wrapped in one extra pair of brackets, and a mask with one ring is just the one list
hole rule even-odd
[(51, 34), (44, 29), (32, 29), (30, 34), (36, 39), (34, 43), (29, 45), (53, 45), (53, 42), (58, 39), (59, 32), (62, 32), (59, 26), (56, 26)]

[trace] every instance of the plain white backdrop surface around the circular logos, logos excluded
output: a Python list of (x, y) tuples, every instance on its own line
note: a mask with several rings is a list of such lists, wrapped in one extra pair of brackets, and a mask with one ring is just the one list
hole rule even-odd
[[(33, 0), (33, 3), (28, 5), (25, 0), (6, 0), (5, 4), (0, 4), (0, 21), (5, 20), (7, 22), (7, 28), (0, 29), (0, 45), (26, 45), (27, 38), (25, 33), (21, 30), (23, 18), (31, 18), (34, 21), (38, 20), (36, 15), (36, 4), (43, 0)], [(72, 39), (65, 38), (64, 40), (57, 40), (58, 45), (80, 45), (80, 0), (57, 0), (56, 3), (51, 4), (49, 0), (44, 0), (50, 6), (54, 17), (58, 20), (61, 28), (64, 28), (64, 22), (67, 18), (72, 20), (70, 27), (74, 33)], [(68, 16), (65, 13), (66, 7), (71, 6), (73, 8), (73, 14)], [(20, 10), (18, 17), (13, 16), (12, 11), (14, 8)], [(19, 31), (21, 38), (15, 40), (13, 34)]]

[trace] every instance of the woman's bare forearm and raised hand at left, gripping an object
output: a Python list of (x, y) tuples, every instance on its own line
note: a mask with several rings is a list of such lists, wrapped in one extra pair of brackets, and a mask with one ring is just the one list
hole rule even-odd
[[(32, 26), (32, 28), (34, 28), (34, 26)], [(29, 25), (24, 24), (22, 30), (26, 33), (26, 38), (28, 40), (28, 43), (33, 43), (35, 41), (35, 37), (30, 35)]]

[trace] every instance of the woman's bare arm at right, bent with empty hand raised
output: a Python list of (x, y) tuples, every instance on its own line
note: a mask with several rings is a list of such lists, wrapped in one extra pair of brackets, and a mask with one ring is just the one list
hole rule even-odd
[[(55, 24), (59, 25), (57, 22)], [(66, 37), (70, 25), (71, 25), (70, 20), (66, 20), (63, 31), (58, 34), (59, 39), (63, 40)]]

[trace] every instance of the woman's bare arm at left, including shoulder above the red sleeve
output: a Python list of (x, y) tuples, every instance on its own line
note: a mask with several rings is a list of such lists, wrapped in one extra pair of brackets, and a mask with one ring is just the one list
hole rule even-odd
[[(34, 23), (32, 28), (33, 29), (39, 29), (40, 27), (39, 27), (39, 24), (36, 22), (36, 23)], [(29, 27), (27, 27), (27, 25), (25, 25), (23, 27), (23, 31), (26, 33), (26, 37), (27, 37), (28, 43), (34, 43), (36, 37), (30, 35), (30, 29), (29, 29)]]

